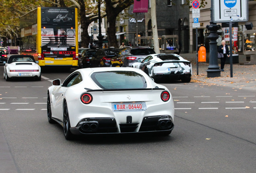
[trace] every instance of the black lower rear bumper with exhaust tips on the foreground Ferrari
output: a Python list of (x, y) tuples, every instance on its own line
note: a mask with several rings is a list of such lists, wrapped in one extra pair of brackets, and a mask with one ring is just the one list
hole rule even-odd
[(87, 134), (118, 134), (118, 133), (154, 133), (171, 132), (174, 124), (171, 116), (144, 117), (141, 123), (117, 124), (114, 118), (88, 118), (82, 119), (71, 127), (74, 135)]

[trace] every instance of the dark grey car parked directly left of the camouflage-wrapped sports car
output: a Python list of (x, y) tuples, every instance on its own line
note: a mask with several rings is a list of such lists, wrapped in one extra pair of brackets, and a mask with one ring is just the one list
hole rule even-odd
[(120, 66), (131, 67), (134, 62), (145, 58), (149, 54), (155, 54), (155, 51), (149, 46), (124, 46), (118, 53), (117, 58), (122, 58)]

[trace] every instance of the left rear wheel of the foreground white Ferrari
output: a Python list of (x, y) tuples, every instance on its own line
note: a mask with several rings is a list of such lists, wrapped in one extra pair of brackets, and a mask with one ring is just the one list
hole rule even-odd
[(70, 120), (68, 116), (68, 105), (66, 101), (64, 102), (64, 106), (63, 106), (63, 131), (64, 131), (64, 137), (67, 140), (73, 139), (73, 135), (70, 132)]

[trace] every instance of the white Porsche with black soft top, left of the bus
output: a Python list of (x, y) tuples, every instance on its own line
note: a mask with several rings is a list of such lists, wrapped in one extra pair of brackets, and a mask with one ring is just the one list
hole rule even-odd
[(4, 65), (4, 78), (33, 77), (41, 80), (41, 68), (31, 55), (12, 55)]

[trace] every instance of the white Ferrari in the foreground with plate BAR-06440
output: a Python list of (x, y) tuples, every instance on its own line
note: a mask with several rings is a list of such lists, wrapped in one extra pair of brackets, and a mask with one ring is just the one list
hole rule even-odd
[(174, 127), (171, 93), (136, 68), (83, 68), (47, 91), (49, 123), (60, 123), (66, 139), (81, 134), (153, 133)]

